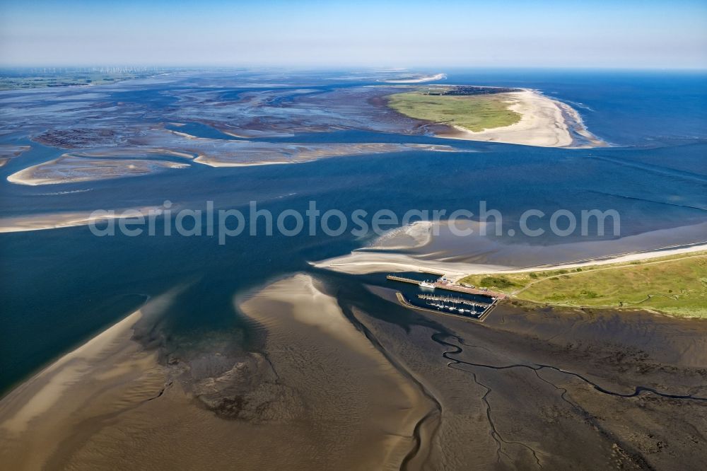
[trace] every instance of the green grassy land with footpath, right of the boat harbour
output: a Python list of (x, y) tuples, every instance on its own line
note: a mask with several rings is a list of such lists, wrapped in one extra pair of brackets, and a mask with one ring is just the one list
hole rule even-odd
[(461, 281), (535, 303), (645, 308), (707, 318), (707, 252), (576, 269), (472, 275)]

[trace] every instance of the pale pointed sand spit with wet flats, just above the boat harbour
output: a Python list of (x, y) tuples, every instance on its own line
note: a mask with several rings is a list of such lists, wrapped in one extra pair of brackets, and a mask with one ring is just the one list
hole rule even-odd
[[(374, 240), (368, 248), (354, 250), (349, 255), (312, 262), (312, 265), (348, 274), (430, 271), (445, 274), (450, 279), (460, 279), (467, 274), (522, 272), (546, 268), (570, 269), (590, 264), (646, 260), (666, 255), (698, 252), (707, 248), (707, 241), (694, 241), (696, 234), (703, 231), (707, 223), (662, 229), (617, 240), (588, 240), (538, 247), (527, 244), (501, 245), (490, 238), (479, 236), (480, 224), (475, 221), (465, 222), (466, 225), (474, 228), (473, 236), (452, 235), (449, 233), (447, 221), (436, 221), (431, 224), (429, 239), (422, 246), (408, 241), (407, 245), (396, 244), (393, 248), (387, 248), (400, 252), (376, 250), (378, 245), (385, 244), (390, 237), (384, 234)], [(467, 228), (461, 224), (462, 221), (457, 221), (457, 228)], [(395, 231), (404, 233), (411, 230), (415, 229), (407, 226)], [(665, 245), (664, 242), (682, 239), (685, 240), (684, 243)], [(455, 245), (458, 248), (455, 249)], [(443, 246), (450, 249), (442, 250)], [(624, 250), (626, 247), (631, 247), (633, 250)], [(455, 250), (463, 251), (466, 257), (462, 256), (462, 252)], [(474, 255), (475, 251), (483, 257)], [(506, 252), (513, 255), (493, 257), (493, 252)], [(523, 252), (527, 254), (523, 255)], [(479, 259), (481, 261), (476, 261)], [(503, 262), (495, 263), (490, 262), (491, 260), (503, 260)], [(528, 263), (529, 261), (532, 262)]]

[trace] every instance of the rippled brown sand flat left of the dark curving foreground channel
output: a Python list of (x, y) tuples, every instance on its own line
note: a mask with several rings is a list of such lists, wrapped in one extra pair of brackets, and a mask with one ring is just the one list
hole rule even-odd
[[(132, 339), (151, 332), (166, 306), (154, 299), (4, 397), (0, 463), (397, 470), (414, 455), (431, 403), (312, 278), (279, 281), (242, 303), (262, 326), (267, 356), (245, 354), (222, 373), (218, 361), (230, 360), (218, 341), (207, 354), (216, 362), (199, 355), (160, 366), (157, 351)], [(235, 414), (204, 407), (219, 397)]]

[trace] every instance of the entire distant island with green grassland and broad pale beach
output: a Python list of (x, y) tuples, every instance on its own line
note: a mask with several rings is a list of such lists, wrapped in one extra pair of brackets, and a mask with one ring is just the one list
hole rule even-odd
[(606, 143), (588, 132), (569, 105), (525, 88), (428, 86), (387, 96), (393, 110), (445, 124), (440, 137), (541, 147), (593, 147)]

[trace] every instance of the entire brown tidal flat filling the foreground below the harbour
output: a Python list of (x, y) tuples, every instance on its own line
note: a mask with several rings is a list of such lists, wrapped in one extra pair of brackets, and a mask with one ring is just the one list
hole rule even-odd
[(385, 321), (357, 302), (298, 275), (239, 303), (260, 326), (266, 356), (252, 354), (264, 360), (238, 362), (204, 384), (258, 390), (264, 378), (276, 394), (262, 397), (258, 421), (217, 417), (184, 383), (165, 383), (168, 368), (131, 340), (134, 325), (153, 315), (148, 303), (0, 401), (0, 463), (309, 471), (397, 470), (403, 460), (410, 470), (703, 462), (703, 402), (650, 390), (621, 395), (645, 386), (704, 397), (704, 322), (503, 305), (481, 325), (397, 304)]

